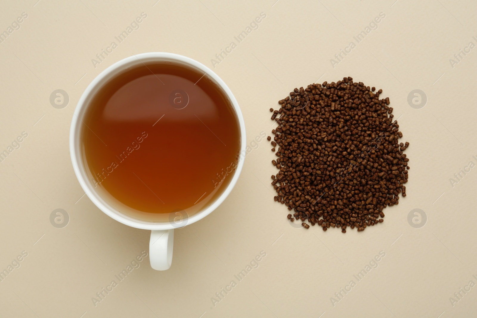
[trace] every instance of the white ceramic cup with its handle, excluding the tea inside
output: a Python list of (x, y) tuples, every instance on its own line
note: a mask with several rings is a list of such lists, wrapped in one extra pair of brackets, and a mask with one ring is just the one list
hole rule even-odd
[(70, 128), (70, 154), (71, 161), (73, 163), (74, 173), (80, 182), (81, 187), (88, 197), (93, 201), (93, 203), (100, 208), (105, 214), (114, 218), (114, 220), (121, 222), (125, 225), (141, 228), (145, 230), (151, 230), (151, 239), (149, 241), (149, 256), (151, 261), (151, 267), (156, 270), (166, 270), (169, 269), (172, 263), (172, 250), (174, 242), (174, 228), (183, 227), (198, 220), (206, 217), (212, 211), (214, 211), (218, 205), (220, 205), (227, 195), (232, 191), (232, 188), (239, 178), (240, 171), (242, 170), (243, 160), (239, 160), (236, 171), (232, 177), (232, 180), (228, 184), (227, 188), (223, 191), (215, 202), (212, 202), (209, 205), (206, 205), (202, 211), (187, 217), (185, 222), (181, 221), (175, 222), (149, 222), (141, 219), (134, 218), (130, 215), (126, 215), (121, 211), (114, 208), (112, 205), (108, 204), (104, 198), (99, 195), (94, 190), (94, 185), (88, 179), (85, 169), (87, 168), (86, 163), (84, 162), (83, 154), (81, 151), (81, 131), (82, 125), (80, 118), (84, 115), (86, 109), (89, 107), (93, 95), (98, 92), (98, 90), (103, 87), (103, 85), (114, 78), (117, 74), (124, 72), (126, 69), (134, 68), (141, 64), (147, 64), (147, 62), (173, 62), (185, 65), (189, 68), (193, 68), (199, 72), (208, 76), (213, 82), (218, 84), (218, 86), (225, 92), (230, 100), (237, 118), (239, 120), (240, 127), (240, 154), (245, 153), (245, 124), (243, 122), (243, 116), (240, 112), (239, 104), (235, 99), (234, 95), (225, 84), (224, 81), (218, 77), (216, 73), (210, 70), (207, 66), (202, 63), (199, 63), (191, 58), (166, 52), (150, 52), (142, 53), (134, 56), (130, 56), (114, 63), (103, 72), (101, 72), (96, 78), (91, 82), (86, 90), (81, 95), (76, 109), (74, 110), (73, 120), (71, 122)]

